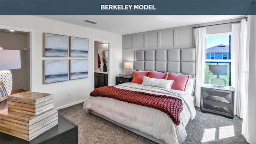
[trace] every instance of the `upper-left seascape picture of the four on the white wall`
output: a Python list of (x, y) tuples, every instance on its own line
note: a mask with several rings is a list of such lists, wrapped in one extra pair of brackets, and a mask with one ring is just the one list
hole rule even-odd
[(68, 57), (68, 36), (44, 33), (44, 57)]

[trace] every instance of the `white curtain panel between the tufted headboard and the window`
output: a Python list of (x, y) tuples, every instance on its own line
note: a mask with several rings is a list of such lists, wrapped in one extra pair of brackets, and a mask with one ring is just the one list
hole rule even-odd
[(204, 83), (204, 65), (206, 49), (205, 27), (194, 29), (196, 44), (196, 106), (200, 107), (201, 86)]

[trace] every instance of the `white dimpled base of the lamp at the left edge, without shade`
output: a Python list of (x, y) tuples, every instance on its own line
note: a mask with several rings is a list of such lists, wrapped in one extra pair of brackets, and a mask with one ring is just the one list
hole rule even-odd
[(0, 70), (0, 82), (3, 82), (7, 95), (12, 92), (12, 73), (10, 70)]

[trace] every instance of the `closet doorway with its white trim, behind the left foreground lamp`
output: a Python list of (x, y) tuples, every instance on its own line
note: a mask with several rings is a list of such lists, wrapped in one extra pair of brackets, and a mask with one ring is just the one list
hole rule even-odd
[(0, 47), (20, 50), (21, 68), (11, 70), (12, 90), (35, 90), (34, 34), (32, 29), (0, 25)]

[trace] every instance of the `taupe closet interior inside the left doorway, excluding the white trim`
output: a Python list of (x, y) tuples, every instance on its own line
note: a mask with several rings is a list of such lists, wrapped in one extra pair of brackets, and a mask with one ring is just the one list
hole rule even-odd
[(20, 50), (21, 68), (11, 70), (12, 90), (30, 91), (30, 33), (0, 29), (0, 40), (3, 50)]

